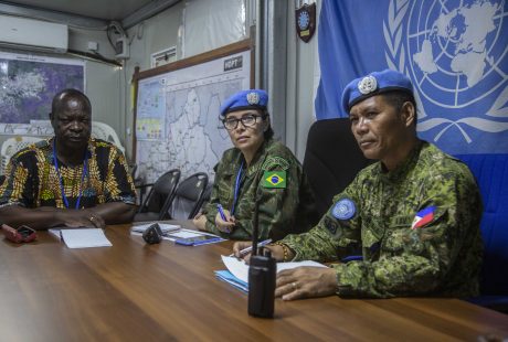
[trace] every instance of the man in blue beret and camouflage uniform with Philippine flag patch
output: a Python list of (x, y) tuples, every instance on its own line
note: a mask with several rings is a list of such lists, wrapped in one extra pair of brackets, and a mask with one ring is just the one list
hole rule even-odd
[[(417, 139), (410, 79), (372, 73), (346, 87), (342, 104), (363, 154), (379, 162), (335, 196), (310, 232), (268, 248), (279, 260), (330, 261), (361, 246), (362, 259), (283, 271), (276, 296), (477, 295), (479, 192), (464, 163)], [(243, 247), (235, 245), (235, 253)]]

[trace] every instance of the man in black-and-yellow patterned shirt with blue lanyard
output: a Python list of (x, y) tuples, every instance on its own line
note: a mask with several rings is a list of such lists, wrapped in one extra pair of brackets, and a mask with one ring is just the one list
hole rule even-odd
[(136, 193), (124, 154), (91, 138), (92, 106), (76, 89), (56, 94), (55, 136), (17, 152), (0, 185), (0, 221), (35, 229), (131, 222)]

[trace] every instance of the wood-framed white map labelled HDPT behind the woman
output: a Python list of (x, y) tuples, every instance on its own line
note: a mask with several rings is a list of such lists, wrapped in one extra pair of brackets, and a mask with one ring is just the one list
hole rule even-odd
[(183, 178), (210, 173), (231, 148), (219, 111), (223, 100), (253, 85), (251, 46), (240, 41), (135, 73), (133, 154), (147, 182), (174, 168)]

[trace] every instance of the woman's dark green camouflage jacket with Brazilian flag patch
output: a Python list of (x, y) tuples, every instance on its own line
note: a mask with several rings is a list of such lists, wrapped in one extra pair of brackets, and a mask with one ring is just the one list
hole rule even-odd
[[(307, 232), (318, 221), (310, 185), (303, 173), (301, 165), (292, 151), (283, 143), (269, 139), (254, 156), (251, 165), (240, 177), (240, 190), (234, 209), (236, 226), (231, 234), (215, 227), (216, 204), (231, 212), (234, 201), (236, 177), (244, 163), (242, 152), (232, 148), (224, 152), (215, 165), (215, 182), (210, 203), (203, 213), (207, 215), (207, 231), (232, 239), (252, 237), (255, 199), (258, 199), (258, 238), (268, 236), (274, 241), (289, 233)], [(271, 171), (279, 179), (271, 184)], [(268, 179), (268, 181), (266, 180)], [(279, 184), (277, 184), (277, 182)]]

